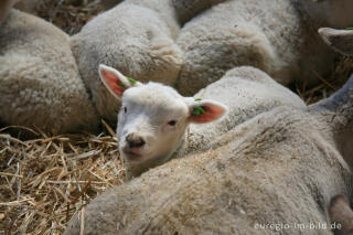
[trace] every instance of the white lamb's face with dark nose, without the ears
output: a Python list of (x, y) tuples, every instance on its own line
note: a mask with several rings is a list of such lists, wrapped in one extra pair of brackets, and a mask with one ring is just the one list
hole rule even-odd
[(161, 84), (127, 89), (118, 117), (120, 153), (130, 164), (167, 161), (190, 124), (191, 104), (192, 100)]

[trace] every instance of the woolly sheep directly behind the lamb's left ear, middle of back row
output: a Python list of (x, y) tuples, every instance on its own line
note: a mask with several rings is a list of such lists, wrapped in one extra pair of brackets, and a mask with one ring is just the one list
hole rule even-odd
[(98, 114), (111, 126), (116, 124), (119, 104), (100, 83), (96, 67), (104, 63), (141, 82), (173, 85), (183, 64), (182, 52), (174, 42), (180, 30), (179, 18), (191, 18), (221, 0), (197, 1), (185, 11), (180, 6), (189, 1), (126, 0), (72, 36), (82, 77)]

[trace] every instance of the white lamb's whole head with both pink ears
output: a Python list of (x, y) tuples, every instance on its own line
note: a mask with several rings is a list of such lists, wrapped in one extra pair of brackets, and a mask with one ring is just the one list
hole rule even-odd
[(99, 75), (110, 93), (121, 99), (119, 150), (128, 174), (133, 177), (168, 161), (181, 145), (189, 124), (211, 122), (226, 113), (220, 103), (183, 97), (159, 83), (141, 84), (113, 67), (100, 65)]

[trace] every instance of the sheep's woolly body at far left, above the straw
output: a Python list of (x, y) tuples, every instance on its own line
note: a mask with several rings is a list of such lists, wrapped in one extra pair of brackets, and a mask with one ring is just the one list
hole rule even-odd
[(3, 124), (54, 135), (99, 124), (68, 35), (14, 9), (0, 26), (0, 114)]

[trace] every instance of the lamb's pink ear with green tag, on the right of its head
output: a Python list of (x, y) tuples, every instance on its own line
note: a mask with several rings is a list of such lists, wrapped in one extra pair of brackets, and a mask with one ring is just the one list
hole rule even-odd
[(227, 107), (214, 100), (195, 99), (190, 106), (190, 121), (207, 124), (222, 118), (227, 113)]

